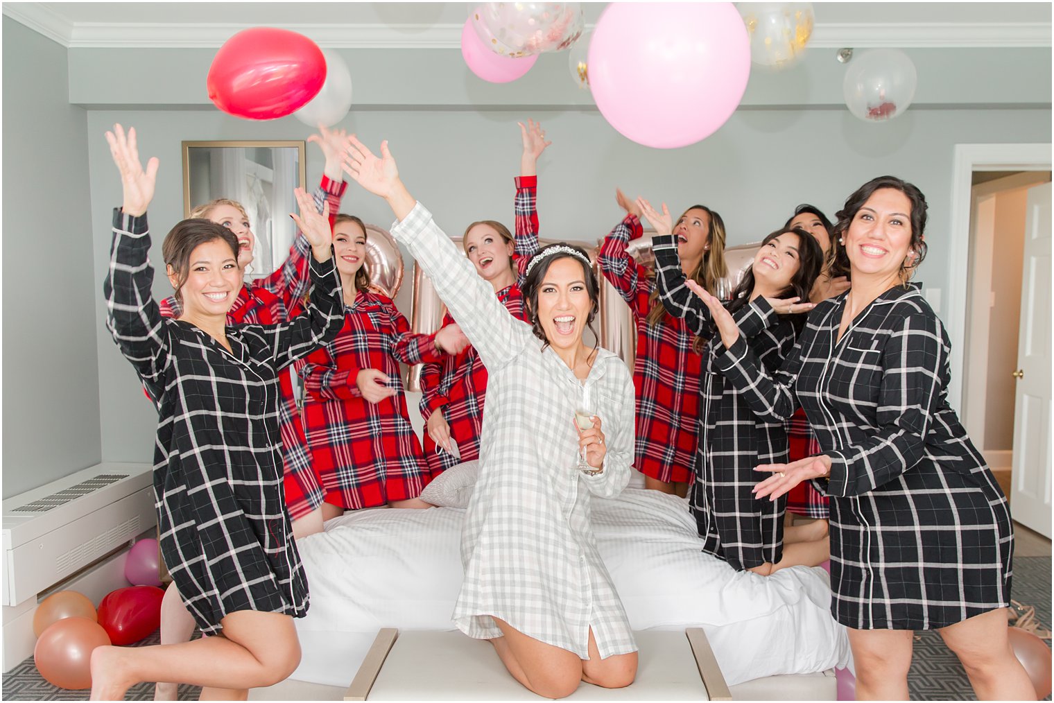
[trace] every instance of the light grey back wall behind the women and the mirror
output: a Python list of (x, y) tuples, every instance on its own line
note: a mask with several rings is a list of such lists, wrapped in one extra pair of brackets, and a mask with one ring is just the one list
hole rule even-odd
[[(1049, 110), (913, 110), (884, 124), (865, 124), (845, 111), (740, 111), (716, 135), (676, 151), (628, 142), (596, 112), (365, 111), (345, 121), (369, 144), (390, 140), (411, 192), (449, 234), (465, 224), (496, 218), (511, 224), (512, 176), (519, 168), (518, 119), (541, 119), (553, 141), (540, 165), (542, 234), (596, 243), (619, 220), (614, 188), (666, 200), (674, 211), (695, 202), (717, 209), (730, 245), (756, 241), (783, 223), (800, 202), (833, 214), (857, 185), (893, 173), (915, 182), (930, 202), (930, 257), (919, 278), (946, 288), (945, 252), (953, 147), (963, 142), (1050, 141)], [(96, 277), (104, 275), (110, 209), (120, 197), (101, 135), (120, 120), (140, 132), (140, 153), (161, 159), (151, 208), (155, 260), (163, 232), (181, 216), (180, 140), (300, 139), (309, 130), (293, 118), (245, 122), (215, 112), (93, 111), (89, 154)], [(308, 179), (316, 181), (321, 158), (308, 145)], [(391, 212), (356, 185), (346, 212), (388, 227)], [(409, 265), (409, 259), (407, 259)], [(156, 294), (167, 294), (158, 280)], [(407, 314), (409, 284), (399, 296)], [(96, 296), (98, 299), (98, 296)], [(101, 320), (101, 301), (97, 304)], [(150, 455), (153, 418), (144, 412), (131, 367), (109, 336), (99, 334), (103, 454), (142, 461)]]

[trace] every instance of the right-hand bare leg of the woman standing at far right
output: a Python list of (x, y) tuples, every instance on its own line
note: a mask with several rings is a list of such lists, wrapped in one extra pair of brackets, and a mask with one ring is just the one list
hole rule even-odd
[(978, 701), (1036, 700), (1036, 689), (1010, 646), (1006, 608), (938, 631), (962, 662)]

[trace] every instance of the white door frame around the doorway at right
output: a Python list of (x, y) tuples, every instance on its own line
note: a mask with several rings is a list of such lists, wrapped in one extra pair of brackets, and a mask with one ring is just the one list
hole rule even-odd
[(948, 402), (962, 411), (962, 365), (967, 330), (967, 272), (970, 270), (971, 189), (974, 171), (1050, 171), (1050, 144), (956, 144), (952, 162), (952, 212), (948, 242), (948, 336), (952, 380)]

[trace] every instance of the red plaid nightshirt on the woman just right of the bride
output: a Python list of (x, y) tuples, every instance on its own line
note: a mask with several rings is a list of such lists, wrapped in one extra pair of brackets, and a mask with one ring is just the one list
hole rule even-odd
[[(597, 257), (604, 277), (629, 305), (637, 323), (637, 456), (633, 465), (659, 481), (690, 483), (699, 445), (699, 378), (702, 355), (692, 351), (685, 321), (664, 313), (648, 325), (651, 272), (626, 252), (644, 234), (640, 220), (626, 215), (604, 239)], [(662, 304), (656, 300), (656, 305)]]

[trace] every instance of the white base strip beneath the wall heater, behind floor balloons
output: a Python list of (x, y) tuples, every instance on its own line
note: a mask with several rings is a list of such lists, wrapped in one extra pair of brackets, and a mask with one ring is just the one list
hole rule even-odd
[[(139, 539), (153, 538), (154, 528), (143, 532)], [(129, 585), (124, 579), (124, 560), (128, 558), (128, 548), (109, 556), (84, 571), (81, 571), (70, 581), (66, 581), (52, 591), (75, 590), (83, 593), (95, 605), (110, 591), (123, 588)], [(3, 608), (3, 672), (6, 673), (21, 664), (27, 657), (33, 656), (33, 648), (37, 644), (37, 636), (33, 633), (33, 616), (37, 611), (39, 599), (31, 598), (15, 606), (4, 606)]]

